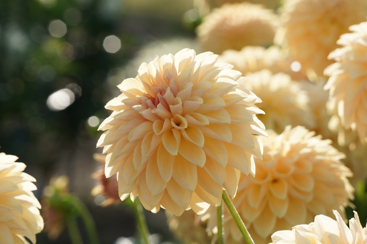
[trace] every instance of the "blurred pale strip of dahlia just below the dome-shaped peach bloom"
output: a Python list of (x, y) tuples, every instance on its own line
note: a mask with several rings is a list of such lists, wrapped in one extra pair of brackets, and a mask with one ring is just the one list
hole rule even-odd
[(292, 80), (306, 80), (306, 72), (298, 61), (288, 57), (279, 47), (269, 48), (260, 46), (248, 46), (240, 51), (226, 50), (218, 59), (220, 62), (230, 63), (233, 69), (243, 75), (248, 72), (257, 72), (269, 69), (273, 74), (283, 72), (289, 74)]

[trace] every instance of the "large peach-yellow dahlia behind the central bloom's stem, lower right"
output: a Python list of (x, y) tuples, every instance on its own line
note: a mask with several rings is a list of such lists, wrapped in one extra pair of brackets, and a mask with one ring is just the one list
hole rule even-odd
[[(332, 216), (333, 209), (344, 216), (344, 207), (353, 197), (346, 178), (352, 174), (340, 161), (344, 154), (330, 140), (321, 140), (301, 126), (288, 126), (280, 135), (268, 131), (268, 135), (261, 138), (264, 154), (262, 161), (255, 159), (255, 177), (241, 175), (233, 199), (255, 243), (269, 243), (277, 230), (309, 223), (318, 214)], [(210, 211), (212, 229), (215, 209)], [(224, 215), (227, 243), (244, 243), (226, 207)]]

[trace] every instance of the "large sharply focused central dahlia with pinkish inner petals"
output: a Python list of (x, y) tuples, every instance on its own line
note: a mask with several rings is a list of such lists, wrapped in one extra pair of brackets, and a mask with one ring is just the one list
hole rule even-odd
[(254, 174), (253, 155), (266, 135), (256, 117), (261, 100), (238, 84), (247, 77), (218, 55), (183, 49), (143, 63), (107, 103), (97, 146), (104, 146), (106, 177), (117, 173), (119, 195), (175, 215), (220, 205), (222, 187), (234, 196), (240, 171)]

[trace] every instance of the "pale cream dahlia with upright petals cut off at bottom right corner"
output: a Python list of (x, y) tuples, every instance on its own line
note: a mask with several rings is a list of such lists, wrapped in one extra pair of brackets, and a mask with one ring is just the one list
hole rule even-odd
[(366, 244), (367, 230), (362, 227), (356, 211), (354, 218), (349, 220), (349, 228), (344, 223), (338, 211), (333, 210), (336, 221), (324, 215), (317, 215), (315, 221), (309, 225), (297, 225), (292, 230), (281, 230), (272, 235), (272, 241), (276, 243), (342, 243), (342, 244)]

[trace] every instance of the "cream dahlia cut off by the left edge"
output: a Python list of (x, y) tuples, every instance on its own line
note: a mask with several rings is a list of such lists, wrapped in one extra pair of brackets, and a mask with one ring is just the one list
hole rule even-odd
[[(36, 243), (43, 229), (41, 205), (32, 191), (34, 179), (18, 157), (0, 153), (0, 243)], [(26, 237), (26, 238), (25, 238)]]

